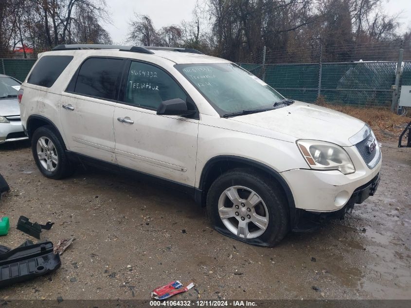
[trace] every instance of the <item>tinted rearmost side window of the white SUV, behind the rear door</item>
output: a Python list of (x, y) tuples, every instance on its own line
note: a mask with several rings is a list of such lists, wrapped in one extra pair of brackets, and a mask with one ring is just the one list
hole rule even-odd
[(32, 85), (50, 88), (72, 59), (71, 55), (42, 56), (37, 61), (27, 82)]

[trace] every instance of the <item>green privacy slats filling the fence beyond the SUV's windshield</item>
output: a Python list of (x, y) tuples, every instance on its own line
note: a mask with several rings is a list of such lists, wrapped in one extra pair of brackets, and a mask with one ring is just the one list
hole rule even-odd
[[(320, 94), (331, 104), (389, 108), (396, 65), (388, 61), (322, 63)], [(242, 66), (255, 69), (255, 64)], [(319, 70), (315, 63), (268, 64), (265, 81), (287, 98), (316, 102)], [(402, 82), (411, 85), (411, 61), (404, 62)]]

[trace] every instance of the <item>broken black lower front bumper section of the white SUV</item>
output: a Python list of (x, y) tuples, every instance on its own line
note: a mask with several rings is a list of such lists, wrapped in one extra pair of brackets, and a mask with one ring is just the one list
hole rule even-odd
[(348, 202), (340, 209), (334, 212), (312, 212), (297, 209), (294, 221), (292, 222), (293, 232), (313, 232), (321, 227), (324, 221), (329, 219), (343, 219), (345, 213), (351, 213), (355, 204), (361, 204), (368, 197), (374, 196), (380, 181), (378, 173), (371, 181), (354, 190)]

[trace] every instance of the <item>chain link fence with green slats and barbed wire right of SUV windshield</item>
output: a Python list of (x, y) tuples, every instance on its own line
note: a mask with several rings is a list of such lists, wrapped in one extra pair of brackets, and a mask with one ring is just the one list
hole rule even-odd
[[(410, 43), (318, 44), (307, 49), (262, 52), (239, 65), (287, 98), (390, 109), (392, 105), (396, 108), (401, 85), (411, 85)], [(400, 78), (396, 84), (398, 66)]]

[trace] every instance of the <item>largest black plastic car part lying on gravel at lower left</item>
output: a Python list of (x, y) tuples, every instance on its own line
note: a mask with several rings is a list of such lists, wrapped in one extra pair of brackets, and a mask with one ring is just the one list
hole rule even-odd
[(61, 265), (53, 243), (34, 244), (27, 240), (19, 247), (0, 254), (0, 288), (53, 272)]

